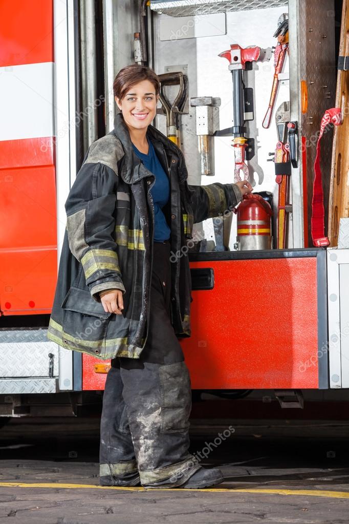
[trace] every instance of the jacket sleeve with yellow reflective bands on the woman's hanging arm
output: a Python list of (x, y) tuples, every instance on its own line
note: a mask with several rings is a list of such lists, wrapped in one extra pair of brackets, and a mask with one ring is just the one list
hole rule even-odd
[(69, 247), (96, 302), (100, 291), (125, 292), (114, 239), (117, 185), (118, 176), (107, 165), (83, 163), (65, 202)]

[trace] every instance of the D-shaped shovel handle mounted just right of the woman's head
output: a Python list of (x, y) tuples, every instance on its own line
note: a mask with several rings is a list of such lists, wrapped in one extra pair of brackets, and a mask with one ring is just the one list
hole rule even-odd
[[(159, 100), (163, 108), (162, 114), (166, 115), (166, 134), (178, 147), (181, 147), (178, 115), (184, 114), (188, 77), (182, 71), (163, 73), (159, 74), (158, 77), (161, 82)], [(165, 95), (164, 88), (166, 85), (179, 85), (178, 93), (172, 104)], [(160, 113), (160, 111), (157, 111), (157, 113)]]

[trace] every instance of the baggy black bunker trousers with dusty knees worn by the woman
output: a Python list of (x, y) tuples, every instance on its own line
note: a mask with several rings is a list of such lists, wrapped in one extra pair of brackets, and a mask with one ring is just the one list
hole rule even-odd
[(139, 359), (117, 357), (107, 374), (99, 476), (137, 474), (143, 486), (179, 486), (198, 469), (188, 452), (190, 378), (171, 324), (170, 242), (154, 242), (148, 339)]

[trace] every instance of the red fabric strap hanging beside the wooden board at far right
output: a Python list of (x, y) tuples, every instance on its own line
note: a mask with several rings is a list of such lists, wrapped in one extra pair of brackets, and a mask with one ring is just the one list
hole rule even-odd
[(342, 113), (339, 107), (328, 109), (322, 117), (320, 126), (320, 136), (316, 149), (316, 159), (314, 163), (314, 185), (312, 199), (312, 216), (311, 216), (311, 236), (313, 244), (316, 247), (328, 246), (329, 239), (325, 237), (325, 210), (323, 207), (323, 189), (322, 174), (320, 167), (320, 140), (328, 124), (339, 126), (342, 124)]

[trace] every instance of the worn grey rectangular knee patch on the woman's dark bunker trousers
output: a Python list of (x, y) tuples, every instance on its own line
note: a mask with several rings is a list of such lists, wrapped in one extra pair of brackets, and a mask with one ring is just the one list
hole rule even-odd
[(186, 364), (176, 362), (159, 367), (161, 395), (161, 433), (189, 428), (192, 391)]

